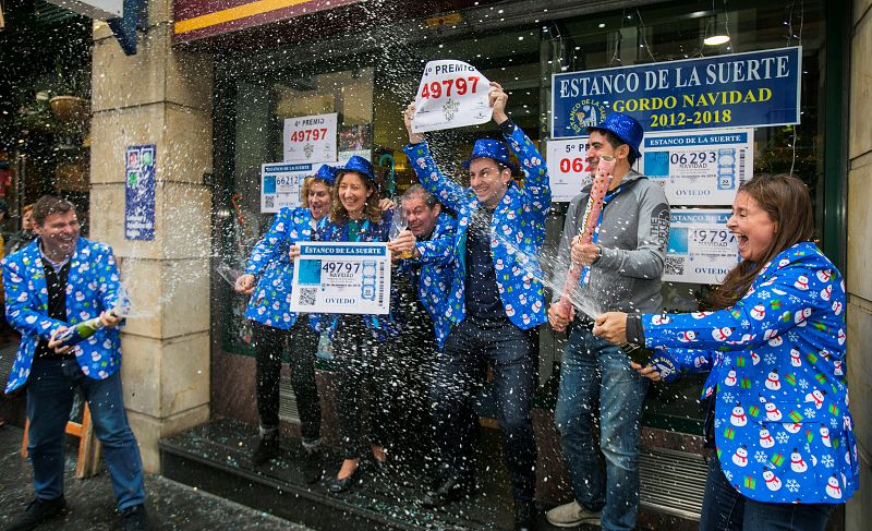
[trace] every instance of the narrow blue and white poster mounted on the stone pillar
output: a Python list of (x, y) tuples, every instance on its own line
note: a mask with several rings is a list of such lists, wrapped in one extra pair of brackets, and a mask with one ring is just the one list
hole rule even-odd
[(124, 174), (124, 238), (154, 240), (155, 145), (128, 146)]

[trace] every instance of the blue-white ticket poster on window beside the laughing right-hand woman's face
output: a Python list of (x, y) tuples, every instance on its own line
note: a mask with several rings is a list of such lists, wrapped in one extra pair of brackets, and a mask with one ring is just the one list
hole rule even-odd
[(673, 209), (663, 279), (719, 285), (739, 263), (736, 237), (726, 226), (730, 214), (725, 209)]

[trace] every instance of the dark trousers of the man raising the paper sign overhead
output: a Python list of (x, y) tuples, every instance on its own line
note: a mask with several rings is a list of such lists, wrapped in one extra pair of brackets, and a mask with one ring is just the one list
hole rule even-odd
[(448, 336), (429, 394), (440, 460), (458, 474), (471, 474), (477, 427), (471, 401), (484, 383), (487, 364), (493, 366), (497, 421), (512, 495), (520, 500), (533, 499), (536, 485), (536, 443), (530, 419), (534, 334), (508, 319), (475, 322), (468, 317)]

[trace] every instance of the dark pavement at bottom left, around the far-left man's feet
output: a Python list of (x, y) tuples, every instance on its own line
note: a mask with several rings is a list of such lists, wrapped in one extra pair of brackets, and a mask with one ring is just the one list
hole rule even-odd
[[(4, 529), (34, 497), (31, 466), (21, 458), (23, 431), (0, 427), (0, 529)], [(64, 516), (39, 527), (46, 531), (108, 531), (120, 529), (114, 495), (105, 467), (94, 478), (73, 478), (75, 454), (66, 452)], [(154, 530), (307, 531), (225, 498), (175, 483), (159, 475), (145, 476), (146, 508)]]

